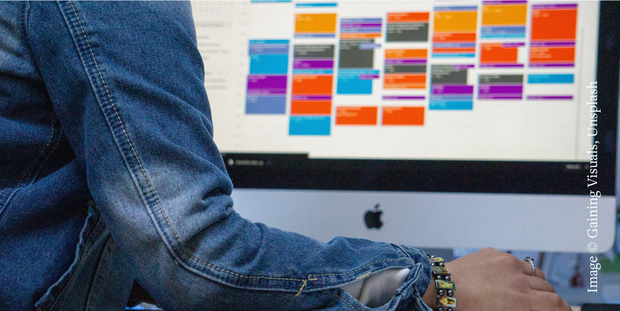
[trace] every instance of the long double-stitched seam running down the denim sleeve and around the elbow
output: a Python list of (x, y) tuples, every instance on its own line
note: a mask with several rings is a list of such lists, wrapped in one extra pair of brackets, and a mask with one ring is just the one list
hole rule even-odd
[[(130, 148), (131, 148), (131, 151), (133, 152), (133, 155), (134, 155), (134, 157), (135, 157), (135, 160), (138, 162), (138, 165), (139, 165), (139, 168), (140, 168), (140, 170), (141, 170), (141, 172), (142, 172), (142, 175), (143, 175), (143, 177), (144, 177), (144, 180), (146, 180), (146, 182), (147, 182), (147, 183), (148, 183), (148, 185), (149, 185), (149, 188), (150, 188), (150, 189), (149, 189), (148, 193), (151, 193), (151, 194), (154, 196), (154, 199), (155, 199), (155, 201), (156, 201), (156, 203), (157, 203), (157, 206), (158, 206), (158, 208), (159, 208), (159, 211), (161, 212), (161, 214), (162, 214), (162, 215), (164, 216), (164, 218), (166, 219), (166, 223), (167, 223), (167, 225), (168, 225), (168, 227), (169, 227), (170, 231), (172, 231), (172, 233), (175, 235), (175, 238), (177, 239), (177, 242), (180, 242), (179, 235), (178, 235), (178, 234), (177, 234), (177, 232), (174, 230), (174, 228), (172, 228), (172, 225), (170, 224), (170, 221), (169, 221), (169, 219), (168, 219), (168, 217), (167, 217), (166, 212), (165, 212), (165, 211), (164, 211), (164, 209), (161, 207), (161, 203), (159, 203), (159, 198), (157, 198), (157, 193), (154, 191), (153, 185), (151, 185), (150, 179), (148, 178), (148, 175), (146, 175), (146, 172), (144, 171), (144, 168), (142, 167), (142, 164), (141, 164), (140, 160), (138, 159), (138, 154), (136, 153), (136, 151), (135, 151), (135, 149), (134, 149), (134, 147), (133, 147), (133, 144), (131, 144), (131, 141), (130, 141), (130, 139), (129, 139), (129, 136), (128, 136), (128, 134), (127, 134), (126, 130), (125, 130), (125, 126), (123, 125), (123, 121), (121, 120), (120, 115), (118, 115), (118, 111), (117, 111), (117, 109), (116, 109), (116, 107), (115, 107), (115, 105), (114, 105), (114, 102), (113, 102), (113, 100), (112, 100), (112, 97), (111, 97), (111, 95), (110, 95), (110, 90), (108, 90), (107, 85), (105, 84), (105, 79), (104, 79), (104, 77), (102, 76), (101, 70), (99, 69), (99, 65), (97, 64), (97, 61), (96, 61), (96, 59), (95, 59), (94, 52), (92, 51), (91, 45), (90, 45), (90, 43), (88, 42), (88, 38), (86, 37), (86, 31), (84, 30), (84, 27), (82, 26), (82, 22), (81, 22), (81, 20), (79, 19), (78, 13), (76, 12), (75, 7), (73, 6), (73, 2), (72, 2), (72, 1), (68, 1), (68, 2), (69, 2), (69, 4), (71, 4), (71, 7), (72, 7), (72, 9), (73, 9), (73, 13), (74, 13), (74, 15), (75, 15), (76, 19), (78, 19), (78, 23), (79, 23), (79, 25), (80, 25), (80, 27), (81, 27), (81, 30), (82, 30), (82, 35), (84, 36), (84, 40), (86, 40), (86, 44), (87, 44), (87, 46), (88, 46), (88, 48), (89, 48), (89, 50), (90, 50), (90, 53), (91, 53), (92, 59), (93, 59), (93, 61), (94, 61), (95, 67), (97, 68), (97, 72), (99, 72), (99, 78), (101, 79), (102, 83), (104, 84), (104, 88), (105, 88), (105, 90), (106, 90), (106, 95), (108, 96), (108, 99), (110, 99), (110, 103), (112, 104), (112, 108), (114, 109), (114, 112), (115, 112), (115, 113), (116, 113), (116, 115), (117, 115), (118, 121), (120, 122), (120, 126), (121, 126), (121, 128), (122, 128), (122, 130), (123, 130), (123, 134), (125, 135), (125, 139), (126, 139), (127, 143), (129, 144), (129, 146), (130, 146)], [(79, 49), (79, 48), (78, 48), (78, 49)], [(86, 66), (86, 65), (85, 65), (85, 66)], [(93, 86), (94, 86), (94, 85), (93, 85)], [(96, 94), (96, 93), (95, 93), (95, 94)], [(105, 113), (104, 113), (104, 115), (105, 115)], [(121, 153), (123, 154), (122, 150), (121, 150)], [(138, 189), (139, 189), (139, 190), (141, 190), (141, 191), (143, 191), (143, 189), (141, 189), (141, 187), (140, 187), (139, 185), (138, 185)], [(143, 194), (143, 195), (144, 195), (144, 194)], [(145, 199), (145, 201), (146, 201), (146, 197), (145, 197), (144, 199)], [(147, 208), (148, 208), (148, 204), (147, 204)], [(174, 250), (172, 249), (172, 247), (170, 247), (170, 245), (169, 245), (169, 248), (170, 248), (170, 251), (174, 253)], [(279, 280), (287, 280), (287, 281), (308, 281), (308, 279), (286, 279), (286, 278), (268, 278), (268, 277), (266, 277), (266, 276), (244, 276), (244, 275), (242, 275), (242, 274), (232, 273), (231, 271), (228, 271), (228, 270), (226, 270), (226, 269), (221, 269), (221, 268), (218, 268), (217, 266), (211, 265), (210, 263), (206, 263), (205, 261), (202, 261), (202, 260), (200, 260), (200, 259), (196, 258), (195, 256), (193, 256), (192, 254), (188, 253), (186, 250), (182, 250), (182, 252), (183, 252), (185, 255), (190, 256), (190, 258), (192, 258), (192, 259), (194, 259), (194, 260), (199, 261), (200, 263), (203, 263), (203, 264), (208, 265), (208, 266), (210, 266), (210, 267), (212, 267), (212, 268), (215, 268), (215, 269), (218, 269), (218, 270), (220, 270), (220, 271), (224, 271), (224, 272), (226, 272), (226, 273), (230, 273), (230, 274), (232, 274), (232, 275), (239, 276), (239, 277), (244, 277), (244, 278), (262, 278), (262, 279), (279, 279)], [(181, 260), (179, 260), (179, 258), (175, 258), (175, 260), (176, 260), (177, 262), (181, 263), (181, 264), (184, 264)]]

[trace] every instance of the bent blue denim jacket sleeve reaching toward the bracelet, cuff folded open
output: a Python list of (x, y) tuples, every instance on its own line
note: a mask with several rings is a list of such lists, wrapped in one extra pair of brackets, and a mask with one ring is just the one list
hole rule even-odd
[(37, 1), (27, 32), (91, 195), (160, 307), (368, 310), (337, 287), (410, 268), (384, 310), (428, 310), (418, 250), (321, 243), (232, 209), (188, 2)]

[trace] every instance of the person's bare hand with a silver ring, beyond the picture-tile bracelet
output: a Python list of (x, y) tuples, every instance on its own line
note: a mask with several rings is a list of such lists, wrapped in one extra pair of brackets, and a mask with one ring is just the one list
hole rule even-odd
[[(571, 311), (540, 269), (532, 276), (527, 261), (495, 248), (484, 248), (445, 265), (454, 281), (454, 311)], [(431, 281), (423, 300), (433, 310), (436, 294), (435, 281)]]

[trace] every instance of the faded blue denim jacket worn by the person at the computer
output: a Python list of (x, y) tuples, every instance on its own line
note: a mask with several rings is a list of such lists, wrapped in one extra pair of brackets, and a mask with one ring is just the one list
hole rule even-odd
[(0, 310), (430, 310), (414, 248), (239, 216), (203, 83), (188, 2), (0, 2)]

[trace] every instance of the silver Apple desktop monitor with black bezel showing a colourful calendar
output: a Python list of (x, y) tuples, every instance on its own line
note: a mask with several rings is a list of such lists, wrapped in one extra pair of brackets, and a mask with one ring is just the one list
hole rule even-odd
[(192, 2), (234, 208), (324, 242), (608, 250), (611, 2)]

